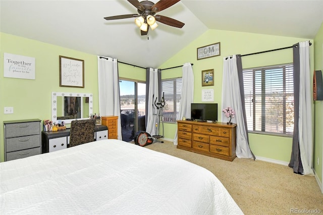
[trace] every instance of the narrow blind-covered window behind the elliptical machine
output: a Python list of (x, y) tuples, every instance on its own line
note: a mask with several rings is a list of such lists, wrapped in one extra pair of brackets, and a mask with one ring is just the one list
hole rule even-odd
[(182, 78), (161, 80), (161, 92), (164, 92), (165, 99), (163, 122), (176, 123), (180, 110)]

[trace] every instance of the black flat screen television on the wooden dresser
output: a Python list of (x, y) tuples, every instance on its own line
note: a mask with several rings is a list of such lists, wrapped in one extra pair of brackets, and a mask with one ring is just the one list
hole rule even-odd
[(191, 103), (191, 120), (218, 121), (218, 103)]

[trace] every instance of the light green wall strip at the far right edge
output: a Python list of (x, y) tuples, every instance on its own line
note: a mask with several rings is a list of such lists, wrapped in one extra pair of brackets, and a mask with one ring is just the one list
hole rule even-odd
[[(314, 38), (314, 70), (323, 72), (323, 23)], [(322, 183), (323, 101), (314, 101), (314, 170)], [(319, 164), (317, 164), (317, 158)], [(323, 188), (322, 188), (323, 189)]]

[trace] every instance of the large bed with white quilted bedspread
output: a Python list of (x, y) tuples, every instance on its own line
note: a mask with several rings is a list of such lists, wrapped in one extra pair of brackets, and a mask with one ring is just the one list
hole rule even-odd
[(0, 214), (242, 214), (208, 170), (115, 139), (0, 169)]

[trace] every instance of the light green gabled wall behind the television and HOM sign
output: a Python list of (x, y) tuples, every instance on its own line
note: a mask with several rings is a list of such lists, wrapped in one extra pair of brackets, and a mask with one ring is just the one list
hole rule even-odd
[[(248, 54), (263, 50), (288, 47), (297, 42), (309, 40), (307, 38), (294, 38), (272, 36), (254, 33), (234, 31), (208, 30), (200, 37), (188, 44), (174, 57), (169, 59), (159, 68), (169, 68), (184, 63), (193, 63), (194, 72), (194, 102), (201, 102), (202, 89), (214, 89), (214, 103), (219, 104), (218, 116), (221, 119), (222, 104), (222, 74), (223, 58), (235, 54)], [(202, 60), (196, 60), (196, 48), (221, 42), (221, 56)], [(311, 40), (313, 43), (313, 41)], [(313, 45), (310, 46), (310, 56), (313, 56)], [(277, 65), (293, 62), (292, 48), (262, 53), (258, 55), (242, 57), (242, 67), (252, 68), (264, 65)], [(311, 58), (311, 71), (313, 70), (313, 58)], [(214, 69), (214, 86), (201, 86), (201, 71)], [(161, 73), (161, 78), (181, 77), (182, 69), (166, 70)], [(322, 128), (322, 127), (321, 127)], [(173, 139), (177, 127), (176, 124), (165, 124), (165, 136)], [(291, 137), (249, 134), (250, 148), (256, 156), (289, 162), (291, 156)]]

